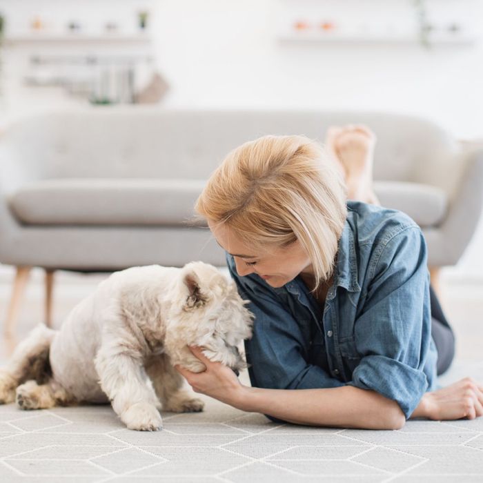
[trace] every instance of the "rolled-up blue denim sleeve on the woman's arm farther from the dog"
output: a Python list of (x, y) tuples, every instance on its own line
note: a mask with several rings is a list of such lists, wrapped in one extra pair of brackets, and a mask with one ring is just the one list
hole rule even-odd
[(409, 226), (373, 250), (371, 284), (354, 326), (362, 359), (351, 384), (395, 400), (410, 417), (428, 381), (424, 364), (431, 344), (426, 243)]

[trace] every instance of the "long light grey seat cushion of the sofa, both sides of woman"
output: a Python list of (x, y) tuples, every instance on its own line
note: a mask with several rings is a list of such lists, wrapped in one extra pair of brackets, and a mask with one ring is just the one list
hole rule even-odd
[[(183, 226), (206, 181), (198, 179), (50, 179), (23, 185), (10, 196), (12, 213), (30, 225)], [(434, 186), (375, 181), (386, 208), (404, 211), (422, 227), (444, 219), (448, 199)]]

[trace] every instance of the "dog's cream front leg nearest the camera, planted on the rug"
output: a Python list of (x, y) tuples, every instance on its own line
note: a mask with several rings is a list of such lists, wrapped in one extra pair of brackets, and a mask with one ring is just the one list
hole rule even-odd
[(101, 348), (95, 359), (102, 390), (108, 395), (115, 413), (129, 429), (158, 430), (163, 421), (156, 408), (157, 397), (146, 384), (141, 356), (138, 359), (113, 349)]

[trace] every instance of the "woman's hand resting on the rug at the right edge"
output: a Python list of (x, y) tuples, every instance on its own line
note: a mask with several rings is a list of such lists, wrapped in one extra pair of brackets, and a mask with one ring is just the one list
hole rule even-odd
[(426, 393), (413, 413), (413, 417), (418, 416), (430, 420), (460, 420), (463, 417), (474, 420), (483, 416), (483, 384), (465, 377), (451, 386)]

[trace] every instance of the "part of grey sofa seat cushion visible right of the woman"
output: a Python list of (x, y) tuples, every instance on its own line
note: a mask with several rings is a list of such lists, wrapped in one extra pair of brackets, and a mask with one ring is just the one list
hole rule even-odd
[(444, 190), (405, 181), (375, 181), (374, 191), (382, 206), (404, 211), (422, 228), (437, 226), (446, 216)]

